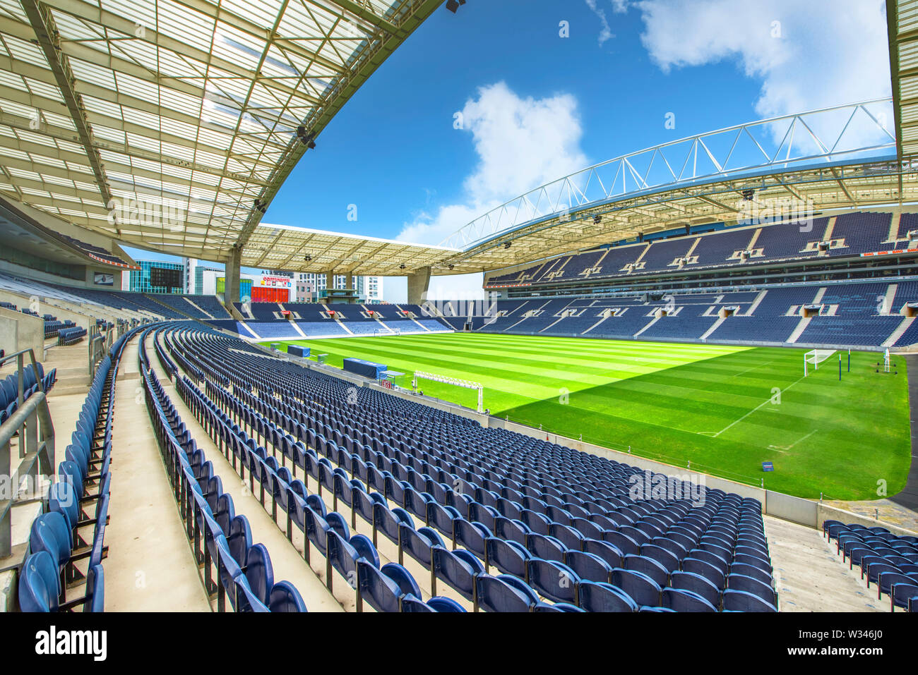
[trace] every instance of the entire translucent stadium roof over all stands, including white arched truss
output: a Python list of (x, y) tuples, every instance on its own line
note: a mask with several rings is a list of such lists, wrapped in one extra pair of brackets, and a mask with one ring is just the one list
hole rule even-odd
[(225, 260), (237, 247), (245, 266), (361, 274), (488, 271), (729, 223), (748, 190), (756, 207), (816, 211), (918, 199), (918, 0), (888, 0), (892, 99), (600, 162), (439, 247), (261, 225), (256, 200), (270, 204), (307, 151), (297, 135), (318, 136), (441, 4), (0, 0), (0, 193), (144, 249)]

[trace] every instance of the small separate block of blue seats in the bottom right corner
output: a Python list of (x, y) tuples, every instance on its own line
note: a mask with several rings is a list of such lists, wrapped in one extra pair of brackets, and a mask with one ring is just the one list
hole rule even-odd
[(885, 527), (845, 525), (838, 520), (823, 522), (823, 536), (835, 540), (835, 552), (848, 561), (848, 569), (857, 565), (861, 579), (877, 584), (877, 599), (885, 592), (890, 597), (890, 611), (896, 607), (914, 612), (918, 609), (918, 537), (893, 535)]

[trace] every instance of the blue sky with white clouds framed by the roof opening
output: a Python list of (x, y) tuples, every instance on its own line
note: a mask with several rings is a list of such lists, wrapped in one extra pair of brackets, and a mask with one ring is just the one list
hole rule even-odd
[[(468, 0), (455, 15), (442, 7), (326, 127), (263, 222), (436, 244), (487, 208), (599, 160), (889, 95), (884, 5)], [(667, 113), (675, 128), (666, 128)], [(453, 278), (431, 291), (467, 296), (480, 285)], [(386, 281), (386, 299), (404, 293), (403, 281)]]

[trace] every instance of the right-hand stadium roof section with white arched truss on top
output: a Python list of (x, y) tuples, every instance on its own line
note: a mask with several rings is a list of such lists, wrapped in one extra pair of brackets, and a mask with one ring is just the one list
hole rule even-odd
[(441, 264), (496, 270), (641, 233), (737, 222), (747, 210), (806, 217), (914, 202), (918, 164), (897, 159), (891, 116), (891, 99), (836, 105), (603, 161), (476, 218), (443, 242), (462, 252)]

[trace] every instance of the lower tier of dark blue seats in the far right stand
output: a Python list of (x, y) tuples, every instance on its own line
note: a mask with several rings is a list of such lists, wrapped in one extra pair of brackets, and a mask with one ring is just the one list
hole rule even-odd
[[(889, 298), (892, 302), (889, 308)], [(691, 340), (727, 343), (785, 343), (796, 329), (795, 344), (837, 347), (881, 347), (905, 328), (896, 345), (918, 342), (918, 325), (900, 314), (918, 301), (918, 282), (790, 284), (757, 291), (658, 294), (619, 298), (498, 300), (497, 319), (479, 317), (473, 330), (585, 336), (590, 338)], [(804, 306), (819, 315), (805, 322)], [(529, 316), (533, 310), (540, 313)], [(888, 311), (889, 310), (889, 311)], [(663, 312), (666, 315), (660, 315)], [(559, 319), (559, 314), (574, 315)], [(604, 314), (610, 314), (603, 316)], [(722, 317), (721, 315), (725, 315)], [(660, 316), (658, 316), (660, 315)], [(465, 319), (447, 318), (456, 330)]]

